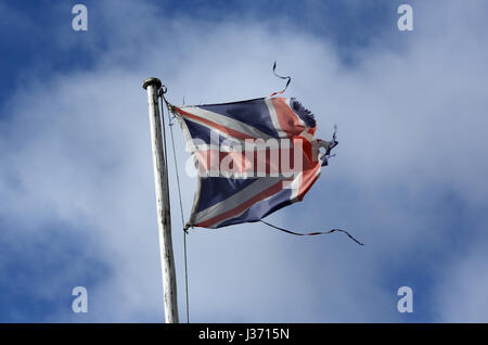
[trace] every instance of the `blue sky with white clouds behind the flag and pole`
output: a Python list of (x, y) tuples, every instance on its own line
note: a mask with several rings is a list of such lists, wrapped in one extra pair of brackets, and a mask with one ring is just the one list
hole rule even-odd
[[(301, 203), (188, 235), (192, 322), (488, 322), (488, 3), (0, 1), (0, 322), (164, 322), (146, 92), (285, 92), (338, 126)], [(397, 9), (413, 9), (400, 31)], [(180, 171), (189, 153), (179, 128)], [(185, 321), (183, 231), (169, 155)], [(183, 174), (188, 218), (196, 180)], [(72, 290), (88, 291), (88, 312)], [(400, 314), (400, 286), (413, 312)]]

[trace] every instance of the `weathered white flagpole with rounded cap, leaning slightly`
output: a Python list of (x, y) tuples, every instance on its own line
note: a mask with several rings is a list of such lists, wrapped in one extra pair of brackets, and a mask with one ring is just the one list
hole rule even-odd
[(147, 106), (151, 123), (151, 143), (154, 163), (154, 181), (157, 200), (157, 229), (159, 234), (160, 267), (166, 323), (178, 323), (177, 285), (175, 257), (171, 241), (171, 218), (169, 208), (168, 169), (163, 151), (163, 136), (157, 92), (162, 82), (157, 78), (145, 79), (142, 87), (147, 90)]

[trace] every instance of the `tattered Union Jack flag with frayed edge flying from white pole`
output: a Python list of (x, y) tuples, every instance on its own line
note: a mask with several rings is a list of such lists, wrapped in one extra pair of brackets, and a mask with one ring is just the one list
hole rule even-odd
[(301, 201), (337, 144), (335, 133), (314, 138), (313, 115), (294, 98), (169, 107), (198, 176), (185, 228), (257, 221)]

